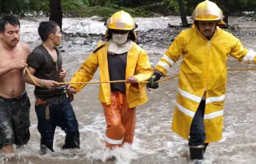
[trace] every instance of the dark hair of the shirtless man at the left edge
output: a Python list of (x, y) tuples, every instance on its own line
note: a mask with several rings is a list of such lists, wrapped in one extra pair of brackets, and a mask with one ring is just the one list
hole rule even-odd
[(5, 25), (11, 24), (12, 26), (21, 27), (20, 21), (13, 14), (6, 14), (0, 19), (0, 32), (5, 32)]

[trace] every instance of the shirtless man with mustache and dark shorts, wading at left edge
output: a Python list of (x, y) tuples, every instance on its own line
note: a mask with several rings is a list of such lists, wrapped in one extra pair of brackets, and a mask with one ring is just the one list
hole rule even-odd
[(20, 22), (13, 15), (0, 19), (0, 150), (13, 153), (13, 144), (30, 139), (30, 101), (22, 80), (29, 47), (19, 42)]

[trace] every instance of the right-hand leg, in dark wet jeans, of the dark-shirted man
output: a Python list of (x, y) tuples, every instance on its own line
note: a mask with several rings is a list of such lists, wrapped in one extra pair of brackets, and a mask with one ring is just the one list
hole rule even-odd
[(75, 113), (73, 107), (69, 102), (69, 99), (61, 104), (61, 121), (58, 123), (58, 126), (62, 127), (62, 130), (65, 130), (65, 144), (62, 147), (63, 149), (70, 148), (80, 148), (80, 135), (77, 119), (75, 118)]

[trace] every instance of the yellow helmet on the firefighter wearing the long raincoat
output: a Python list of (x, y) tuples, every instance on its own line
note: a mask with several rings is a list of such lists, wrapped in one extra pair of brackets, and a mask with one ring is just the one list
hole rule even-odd
[(203, 1), (196, 6), (191, 16), (192, 20), (218, 21), (219, 25), (224, 25), (222, 10), (212, 1)]

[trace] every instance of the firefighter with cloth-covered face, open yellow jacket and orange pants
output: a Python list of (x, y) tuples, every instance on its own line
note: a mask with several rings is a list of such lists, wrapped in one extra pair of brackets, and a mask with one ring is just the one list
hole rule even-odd
[[(126, 83), (100, 84), (99, 99), (103, 105), (107, 132), (106, 146), (132, 144), (134, 139), (136, 106), (148, 101), (146, 83), (153, 74), (147, 53), (134, 41), (137, 27), (130, 14), (119, 11), (108, 18), (107, 43), (98, 43), (97, 48), (71, 82), (89, 82), (99, 67), (101, 82), (127, 80)], [(77, 93), (85, 84), (72, 84), (68, 92)]]

